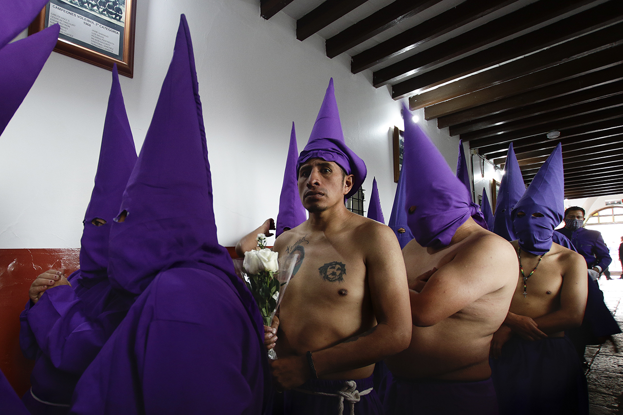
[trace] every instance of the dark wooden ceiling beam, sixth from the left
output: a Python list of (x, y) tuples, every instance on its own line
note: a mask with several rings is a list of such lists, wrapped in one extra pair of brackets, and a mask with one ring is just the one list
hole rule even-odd
[(600, 27), (606, 27), (621, 21), (622, 16), (623, 2), (610, 0), (536, 31), (510, 39), (510, 41), (454, 60), (451, 64), (437, 67), (423, 74), (417, 74), (412, 78), (396, 83), (392, 88), (396, 95), (404, 95), (405, 91), (427, 90), (478, 70), (487, 69), (510, 59), (573, 39)]

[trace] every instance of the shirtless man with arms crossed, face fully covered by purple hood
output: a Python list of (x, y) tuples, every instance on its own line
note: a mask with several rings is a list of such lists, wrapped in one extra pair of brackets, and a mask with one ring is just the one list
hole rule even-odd
[[(411, 344), (386, 359), (388, 414), (497, 414), (488, 364), (515, 289), (517, 259), (429, 138), (405, 117)], [(476, 220), (475, 220), (476, 219)], [(477, 223), (478, 221), (478, 223)]]

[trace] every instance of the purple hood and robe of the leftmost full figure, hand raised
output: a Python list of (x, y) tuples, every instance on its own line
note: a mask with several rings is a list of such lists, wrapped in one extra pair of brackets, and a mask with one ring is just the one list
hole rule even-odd
[[(32, 389), (24, 395), (32, 414), (69, 409), (78, 378), (134, 299), (112, 290), (107, 274), (111, 225), (136, 161), (116, 65), (112, 79), (95, 184), (83, 221), (80, 269), (69, 276), (71, 287), (48, 289), (36, 304), (29, 301), (20, 317), (22, 350), (36, 360)], [(102, 221), (94, 222), (96, 218)], [(36, 341), (34, 352), (32, 338)]]

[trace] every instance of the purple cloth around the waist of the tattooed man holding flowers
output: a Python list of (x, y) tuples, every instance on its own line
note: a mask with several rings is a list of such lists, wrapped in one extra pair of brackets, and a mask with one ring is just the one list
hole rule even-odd
[[(311, 393), (338, 394), (345, 388), (343, 380), (310, 379), (297, 389)], [(373, 387), (373, 377), (356, 379), (356, 390), (360, 393)], [(285, 415), (337, 415), (340, 399), (337, 396), (322, 396), (301, 391), (285, 391), (283, 393)], [(381, 415), (383, 406), (374, 389), (370, 393), (361, 396), (361, 400), (354, 404), (354, 414), (351, 413), (351, 405), (348, 399), (344, 400), (343, 415)]]

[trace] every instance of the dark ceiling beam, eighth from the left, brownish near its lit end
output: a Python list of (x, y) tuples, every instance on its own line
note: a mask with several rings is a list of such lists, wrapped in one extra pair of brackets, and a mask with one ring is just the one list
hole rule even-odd
[[(589, 72), (606, 68), (608, 66), (623, 63), (623, 45), (617, 44), (609, 49), (602, 49), (578, 59), (564, 62), (560, 65), (534, 72), (533, 74), (523, 75), (522, 77), (511, 79), (498, 85), (493, 85), (472, 93), (466, 93), (460, 97), (452, 98), (444, 102), (436, 103), (426, 107), (424, 118), (432, 120), (453, 112), (466, 110), (467, 108), (477, 107), (483, 102), (492, 102), (502, 98), (513, 97), (520, 93), (546, 87), (553, 83), (572, 79)], [(427, 104), (426, 104), (427, 105)], [(413, 109), (422, 108), (422, 102), (418, 102), (418, 96), (409, 98), (409, 107)]]

